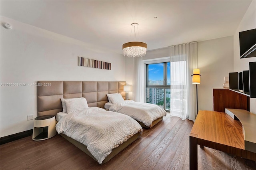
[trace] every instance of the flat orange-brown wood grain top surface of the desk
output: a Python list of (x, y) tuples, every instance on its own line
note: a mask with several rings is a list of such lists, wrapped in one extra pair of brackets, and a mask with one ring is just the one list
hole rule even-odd
[(190, 136), (244, 149), (242, 125), (223, 112), (200, 110)]

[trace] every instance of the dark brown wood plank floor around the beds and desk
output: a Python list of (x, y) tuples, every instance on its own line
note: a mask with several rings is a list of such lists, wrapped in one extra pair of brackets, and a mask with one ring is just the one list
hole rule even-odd
[[(153, 128), (144, 128), (138, 140), (103, 165), (58, 134), (42, 141), (34, 141), (29, 136), (0, 146), (0, 169), (188, 170), (192, 126), (192, 121), (182, 121), (168, 114)], [(256, 169), (256, 162), (218, 150), (198, 147), (198, 153), (200, 170)]]

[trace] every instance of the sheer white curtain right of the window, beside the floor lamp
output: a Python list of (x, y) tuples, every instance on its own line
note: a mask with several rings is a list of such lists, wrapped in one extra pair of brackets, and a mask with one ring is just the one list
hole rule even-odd
[(171, 116), (196, 119), (196, 85), (192, 84), (191, 75), (197, 67), (197, 42), (170, 47)]

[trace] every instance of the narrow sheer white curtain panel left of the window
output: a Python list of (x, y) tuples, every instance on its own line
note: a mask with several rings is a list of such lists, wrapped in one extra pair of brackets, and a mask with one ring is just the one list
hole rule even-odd
[[(142, 57), (135, 57), (133, 59), (133, 97), (134, 101), (144, 103), (145, 98), (145, 82), (144, 82), (144, 65)], [(131, 68), (132, 69), (132, 68)]]

